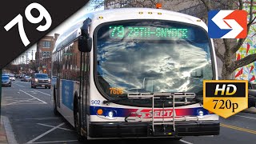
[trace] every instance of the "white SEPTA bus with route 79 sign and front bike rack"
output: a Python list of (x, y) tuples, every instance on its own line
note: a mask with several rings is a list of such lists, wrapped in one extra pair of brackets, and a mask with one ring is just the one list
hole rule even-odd
[(202, 20), (162, 9), (86, 14), (52, 53), (51, 95), (78, 138), (218, 135), (202, 106), (202, 81), (217, 79)]

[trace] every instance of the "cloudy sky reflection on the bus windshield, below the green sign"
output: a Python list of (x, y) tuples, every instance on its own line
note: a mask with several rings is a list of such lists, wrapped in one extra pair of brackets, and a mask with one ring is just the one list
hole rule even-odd
[(98, 82), (108, 95), (110, 87), (125, 93), (198, 93), (202, 80), (213, 78), (208, 38), (202, 30), (194, 30), (201, 40), (116, 40), (108, 38), (107, 27), (98, 30), (97, 71)]

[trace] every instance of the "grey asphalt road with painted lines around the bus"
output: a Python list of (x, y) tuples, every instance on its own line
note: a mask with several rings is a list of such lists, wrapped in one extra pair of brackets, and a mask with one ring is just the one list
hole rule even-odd
[[(10, 120), (14, 136), (19, 144), (24, 143), (70, 143), (78, 144), (74, 129), (62, 117), (54, 116), (50, 89), (30, 88), (30, 82), (17, 79), (12, 87), (2, 87), (2, 115)], [(174, 144), (226, 144), (256, 143), (256, 114), (239, 113), (230, 118), (221, 118), (218, 136), (185, 137), (180, 141), (170, 139), (125, 139), (99, 140), (111, 144), (161, 142)], [(93, 143), (90, 141), (87, 143)]]

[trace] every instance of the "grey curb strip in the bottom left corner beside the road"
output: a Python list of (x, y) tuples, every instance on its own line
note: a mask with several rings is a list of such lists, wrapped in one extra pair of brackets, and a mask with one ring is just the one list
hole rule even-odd
[(14, 131), (10, 126), (9, 118), (1, 115), (1, 122), (6, 132), (6, 142), (8, 142), (9, 144), (18, 144), (14, 136)]

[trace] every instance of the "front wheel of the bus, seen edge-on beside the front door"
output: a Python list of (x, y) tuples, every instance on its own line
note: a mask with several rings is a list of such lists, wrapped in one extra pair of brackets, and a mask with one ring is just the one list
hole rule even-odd
[(79, 108), (78, 108), (78, 97), (74, 96), (74, 129), (77, 132), (78, 135), (78, 141), (82, 142), (83, 137), (81, 134), (81, 126), (79, 121)]

